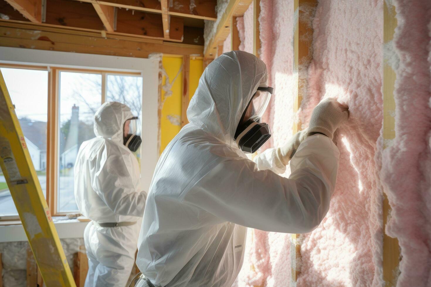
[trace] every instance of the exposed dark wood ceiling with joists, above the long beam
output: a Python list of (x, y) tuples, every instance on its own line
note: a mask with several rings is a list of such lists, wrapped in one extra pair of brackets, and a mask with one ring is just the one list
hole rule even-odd
[[(0, 3), (0, 11), (4, 14), (2, 19), (7, 21), (27, 22), (28, 18), (51, 27), (99, 31), (103, 36), (107, 32), (203, 45), (200, 23), (203, 24), (202, 19), (216, 20), (215, 3), (216, 0), (175, 0), (175, 3), (168, 0), (161, 3), (160, 0), (7, 0)], [(33, 18), (28, 15), (33, 13), (31, 9), (37, 10)]]

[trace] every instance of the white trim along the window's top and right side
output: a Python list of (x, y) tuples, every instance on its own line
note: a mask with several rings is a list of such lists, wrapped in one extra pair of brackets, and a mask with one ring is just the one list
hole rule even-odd
[[(0, 47), (0, 64), (31, 65), (77, 70), (99, 70), (122, 73), (138, 73), (142, 76), (142, 137), (141, 181), (145, 191), (150, 188), (151, 179), (159, 158), (158, 154), (158, 60), (58, 52), (36, 49)], [(58, 89), (58, 85), (57, 85)], [(58, 91), (57, 91), (58, 92)], [(57, 93), (58, 95), (58, 93)], [(102, 99), (104, 101), (105, 99)], [(58, 118), (54, 119), (58, 121)], [(57, 189), (57, 187), (55, 187)], [(49, 191), (47, 190), (47, 193)], [(56, 193), (56, 192), (55, 192)], [(52, 213), (57, 213), (52, 211)]]

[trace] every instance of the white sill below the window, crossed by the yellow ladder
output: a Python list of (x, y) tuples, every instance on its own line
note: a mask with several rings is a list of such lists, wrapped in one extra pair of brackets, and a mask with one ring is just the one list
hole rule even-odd
[[(88, 224), (88, 221), (67, 219), (66, 216), (53, 217), (53, 222), (60, 239), (82, 238), (85, 226)], [(10, 241), (27, 241), (24, 228), (19, 220), (0, 222), (0, 242)]]

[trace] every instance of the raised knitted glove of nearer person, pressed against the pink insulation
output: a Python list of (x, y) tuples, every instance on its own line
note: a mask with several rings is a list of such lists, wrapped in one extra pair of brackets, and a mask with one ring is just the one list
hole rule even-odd
[(323, 100), (311, 114), (308, 136), (322, 133), (328, 138), (334, 137), (334, 132), (349, 118), (349, 107), (341, 105), (334, 98)]

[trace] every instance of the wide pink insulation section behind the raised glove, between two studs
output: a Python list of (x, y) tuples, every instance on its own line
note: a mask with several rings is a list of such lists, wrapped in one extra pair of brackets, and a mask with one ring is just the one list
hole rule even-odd
[[(325, 219), (301, 244), (297, 286), (381, 286), (382, 193), (375, 167), (383, 120), (383, 2), (319, 1), (312, 23), (313, 60), (298, 113), (308, 126), (322, 99), (347, 103), (337, 185)], [(276, 120), (276, 119), (275, 119)]]

